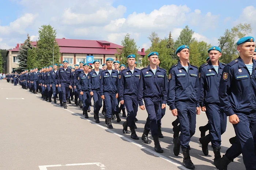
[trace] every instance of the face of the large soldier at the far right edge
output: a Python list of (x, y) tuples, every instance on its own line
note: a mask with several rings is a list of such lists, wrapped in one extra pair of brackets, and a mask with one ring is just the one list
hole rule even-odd
[(238, 45), (237, 50), (239, 51), (240, 55), (250, 58), (254, 55), (255, 44), (254, 42), (245, 42), (241, 45)]

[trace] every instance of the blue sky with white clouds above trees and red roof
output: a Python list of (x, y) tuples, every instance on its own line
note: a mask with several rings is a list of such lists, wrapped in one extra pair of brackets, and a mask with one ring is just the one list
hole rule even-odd
[[(172, 31), (177, 39), (186, 25), (197, 40), (218, 45), (225, 29), (238, 23), (256, 26), (256, 8), (245, 1), (145, 0), (2, 0), (0, 48), (23, 43), (27, 33), (38, 39), (38, 28), (51, 24), (57, 38), (97, 39), (121, 44), (126, 33), (137, 46), (148, 48), (152, 31), (160, 38)], [(50, 4), (50, 5), (49, 5)], [(252, 36), (256, 34), (253, 29)]]

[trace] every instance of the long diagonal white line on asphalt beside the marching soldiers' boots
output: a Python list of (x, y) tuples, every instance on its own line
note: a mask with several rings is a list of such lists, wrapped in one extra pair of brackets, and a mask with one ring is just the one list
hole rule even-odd
[[(64, 109), (64, 108), (61, 107), (59, 104), (57, 104), (57, 106), (60, 107), (60, 108), (62, 108), (62, 109)], [(155, 152), (155, 151), (153, 151), (153, 150), (151, 150), (151, 149), (149, 149), (149, 148), (146, 148), (146, 147), (142, 146), (141, 144), (136, 143), (136, 142), (134, 142), (133, 140), (131, 140), (131, 139), (129, 139), (129, 138), (123, 136), (123, 135), (120, 135), (120, 134), (118, 134), (118, 133), (116, 133), (116, 132), (114, 132), (114, 131), (108, 129), (107, 127), (104, 127), (104, 126), (102, 126), (102, 125), (100, 125), (100, 124), (98, 124), (98, 123), (95, 123), (95, 122), (92, 121), (92, 120), (85, 119), (83, 116), (79, 115), (78, 113), (72, 112), (72, 111), (70, 111), (69, 109), (64, 109), (64, 110), (65, 110), (65, 111), (68, 111), (68, 112), (70, 112), (70, 113), (72, 113), (72, 114), (74, 114), (74, 115), (76, 115), (76, 116), (80, 116), (82, 119), (87, 120), (87, 121), (89, 121), (89, 122), (91, 122), (91, 123), (93, 123), (93, 124), (95, 124), (95, 125), (97, 125), (97, 126), (103, 128), (104, 130), (109, 131), (109, 132), (111, 132), (112, 134), (115, 134), (115, 135), (119, 136), (120, 138), (126, 140), (127, 142), (131, 142), (132, 144), (135, 144), (136, 146), (138, 146), (138, 147), (140, 147), (140, 148), (142, 148), (142, 149), (144, 149), (144, 150), (150, 152), (151, 154), (154, 154), (154, 155), (158, 156), (159, 158), (164, 159), (164, 160), (167, 161), (167, 162), (172, 163), (173, 165), (175, 165), (175, 166), (177, 166), (177, 167), (180, 167), (180, 168), (183, 169), (183, 170), (188, 170), (188, 169), (185, 168), (183, 165), (180, 165), (179, 163), (177, 163), (177, 162), (175, 162), (175, 161), (172, 161), (171, 159), (169, 159), (169, 158), (167, 158), (167, 157), (165, 157), (165, 156), (159, 154), (158, 152)], [(47, 170), (47, 169), (46, 169), (46, 170)]]

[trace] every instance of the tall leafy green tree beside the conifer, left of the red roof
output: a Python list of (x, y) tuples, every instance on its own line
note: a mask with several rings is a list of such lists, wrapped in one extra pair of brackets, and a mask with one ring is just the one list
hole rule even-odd
[[(60, 48), (56, 42), (56, 30), (50, 25), (43, 25), (38, 31), (37, 61), (38, 67), (60, 63)], [(54, 49), (54, 50), (53, 50)], [(54, 51), (54, 59), (53, 59)], [(54, 61), (53, 61), (54, 60)]]

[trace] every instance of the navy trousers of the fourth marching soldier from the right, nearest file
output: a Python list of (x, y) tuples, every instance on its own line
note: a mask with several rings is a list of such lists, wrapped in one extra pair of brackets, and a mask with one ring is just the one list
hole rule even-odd
[(150, 130), (152, 136), (158, 135), (157, 118), (160, 117), (158, 114), (160, 114), (159, 105), (161, 103), (161, 100), (160, 98), (153, 99), (148, 97), (145, 97), (143, 99), (144, 99), (145, 107), (148, 114), (144, 129)]

